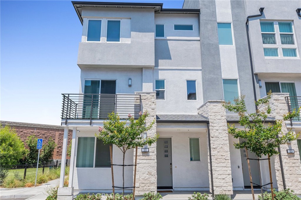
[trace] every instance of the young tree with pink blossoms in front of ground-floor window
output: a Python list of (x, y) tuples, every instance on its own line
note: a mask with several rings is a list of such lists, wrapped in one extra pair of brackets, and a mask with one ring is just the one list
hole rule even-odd
[[(123, 153), (123, 162), (126, 151), (136, 147), (144, 147), (144, 145), (151, 145), (157, 141), (158, 135), (154, 137), (143, 138), (143, 133), (150, 130), (155, 120), (146, 126), (145, 119), (149, 116), (149, 113), (145, 111), (139, 113), (137, 120), (129, 114), (129, 125), (126, 125), (128, 121), (120, 121), (118, 114), (114, 112), (109, 115), (109, 120), (104, 122), (104, 129), (99, 127), (98, 139), (102, 140), (104, 144), (114, 144)], [(137, 148), (136, 148), (137, 153)], [(137, 154), (136, 154), (137, 155)], [(112, 159), (111, 159), (112, 163)], [(113, 168), (113, 166), (111, 166)], [(113, 171), (112, 171), (113, 175)], [(124, 195), (124, 166), (122, 167), (122, 179), (123, 179), (123, 195)], [(135, 180), (134, 180), (135, 183)], [(135, 189), (135, 188), (134, 188)], [(113, 192), (114, 195), (114, 192)], [(134, 198), (134, 197), (133, 197)]]

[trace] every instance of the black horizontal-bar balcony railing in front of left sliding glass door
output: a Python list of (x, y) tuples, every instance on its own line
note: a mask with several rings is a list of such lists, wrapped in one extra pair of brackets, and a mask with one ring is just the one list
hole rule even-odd
[(107, 119), (108, 114), (118, 113), (120, 119), (135, 119), (141, 111), (141, 95), (136, 94), (62, 94), (61, 118), (67, 124), (68, 119)]

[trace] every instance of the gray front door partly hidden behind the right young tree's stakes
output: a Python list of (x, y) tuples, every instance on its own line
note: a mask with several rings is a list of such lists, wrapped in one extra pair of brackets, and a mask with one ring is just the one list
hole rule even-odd
[[(245, 141), (244, 139), (239, 139), (239, 142)], [(240, 149), (240, 156), (241, 156), (241, 167), (243, 170), (243, 177), (244, 177), (244, 188), (251, 188), (250, 183), (250, 176), (249, 176), (249, 168), (247, 162), (247, 154), (245, 149)], [(250, 159), (257, 159), (255, 153), (248, 151), (248, 156)], [(250, 161), (250, 168), (252, 174), (252, 182), (260, 185), (259, 181), (259, 170), (258, 170), (258, 163), (257, 160), (249, 160)], [(254, 188), (260, 188), (259, 186), (253, 184)]]

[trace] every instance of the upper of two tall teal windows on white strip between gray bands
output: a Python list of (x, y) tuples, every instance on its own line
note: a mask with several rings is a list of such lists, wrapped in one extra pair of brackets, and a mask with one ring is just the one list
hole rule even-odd
[(220, 45), (233, 45), (231, 23), (217, 23)]

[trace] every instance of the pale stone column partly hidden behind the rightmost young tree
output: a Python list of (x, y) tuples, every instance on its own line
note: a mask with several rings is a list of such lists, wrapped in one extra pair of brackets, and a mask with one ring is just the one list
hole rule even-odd
[[(282, 120), (282, 116), (288, 113), (287, 102), (285, 99), (286, 96), (289, 96), (289, 93), (272, 94), (270, 100), (270, 106), (272, 108), (271, 117), (275, 117), (276, 120)], [(286, 134), (290, 130), (294, 131), (294, 129), (288, 128), (284, 122), (282, 124), (282, 132)], [(294, 149), (295, 153), (287, 153), (287, 149)], [(297, 141), (280, 145), (280, 152), (286, 188), (290, 188), (294, 190), (295, 193), (301, 194), (301, 164)], [(279, 156), (275, 156), (275, 170), (278, 189), (282, 190), (283, 180)]]

